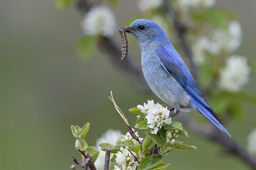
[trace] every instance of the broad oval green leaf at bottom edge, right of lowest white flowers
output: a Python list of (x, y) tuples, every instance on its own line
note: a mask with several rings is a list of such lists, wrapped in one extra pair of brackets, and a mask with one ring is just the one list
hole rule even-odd
[(140, 162), (137, 170), (151, 169), (152, 167), (156, 166), (159, 162), (161, 162), (161, 160), (162, 160), (162, 157), (157, 155), (147, 156)]

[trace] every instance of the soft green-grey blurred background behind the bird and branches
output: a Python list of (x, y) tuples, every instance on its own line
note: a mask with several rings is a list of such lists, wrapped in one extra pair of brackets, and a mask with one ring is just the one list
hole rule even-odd
[[(117, 29), (129, 26), (135, 19), (157, 22), (191, 68), (172, 19), (163, 12), (162, 1), (149, 5), (145, 5), (147, 1), (88, 2), (91, 6), (86, 9), (74, 0), (1, 0), (0, 169), (69, 169), (74, 164), (70, 156), (80, 157), (70, 125), (82, 127), (90, 122), (85, 140), (91, 146), (108, 129), (124, 134), (126, 125), (108, 98), (110, 90), (131, 126), (136, 116), (129, 108), (151, 99), (163, 103), (143, 90), (147, 86), (130, 74), (133, 71), (119, 69), (120, 62), (114, 63), (109, 55), (113, 53), (102, 50), (107, 42), (104, 37), (121, 50)], [(198, 70), (196, 80), (235, 141), (249, 148), (255, 157), (255, 142), (250, 141), (256, 138), (255, 0), (172, 3), (179, 11), (180, 23), (187, 28), (186, 41)], [(99, 10), (97, 6), (108, 14), (103, 21), (92, 19), (97, 14), (93, 10)], [(111, 29), (106, 32), (105, 28)], [(228, 38), (224, 39), (224, 35)], [(132, 35), (127, 37), (127, 59), (141, 74), (139, 44)], [(240, 82), (232, 77), (232, 71), (228, 72), (232, 69), (242, 77)], [(228, 86), (227, 81), (236, 85)], [(204, 126), (203, 116), (194, 112), (180, 114), (189, 114)], [(183, 123), (176, 116), (172, 120)], [(180, 140), (197, 150), (170, 152), (163, 160), (171, 163), (169, 169), (251, 168), (217, 142), (200, 137), (184, 123), (183, 127), (189, 138)], [(251, 132), (254, 134), (248, 137)], [(143, 131), (139, 135), (145, 137)]]

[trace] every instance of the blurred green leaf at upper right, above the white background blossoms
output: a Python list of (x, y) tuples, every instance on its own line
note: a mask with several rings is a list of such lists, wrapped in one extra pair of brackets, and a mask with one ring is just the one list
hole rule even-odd
[(205, 11), (191, 11), (191, 18), (198, 23), (208, 23), (215, 27), (227, 28), (229, 20), (234, 15), (223, 9), (207, 9)]

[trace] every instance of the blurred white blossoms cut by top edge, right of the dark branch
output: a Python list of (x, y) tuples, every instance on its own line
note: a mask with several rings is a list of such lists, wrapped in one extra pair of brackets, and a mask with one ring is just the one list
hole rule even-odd
[(212, 7), (216, 0), (177, 0), (178, 4), (184, 8)]

